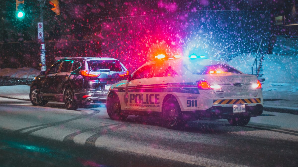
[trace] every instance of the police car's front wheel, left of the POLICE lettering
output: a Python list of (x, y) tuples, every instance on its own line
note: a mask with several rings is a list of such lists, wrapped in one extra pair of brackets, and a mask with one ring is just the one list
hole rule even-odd
[(127, 118), (127, 115), (124, 115), (121, 112), (121, 104), (119, 97), (114, 93), (108, 96), (107, 112), (109, 117), (114, 120), (125, 120)]

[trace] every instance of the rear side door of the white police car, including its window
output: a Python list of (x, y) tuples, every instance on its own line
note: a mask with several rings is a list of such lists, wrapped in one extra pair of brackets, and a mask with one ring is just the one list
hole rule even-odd
[(152, 77), (149, 77), (144, 83), (147, 89), (144, 89), (143, 93), (143, 111), (161, 112), (162, 97), (165, 96), (167, 84), (173, 78), (172, 75), (167, 74), (168, 69), (168, 64), (154, 64)]

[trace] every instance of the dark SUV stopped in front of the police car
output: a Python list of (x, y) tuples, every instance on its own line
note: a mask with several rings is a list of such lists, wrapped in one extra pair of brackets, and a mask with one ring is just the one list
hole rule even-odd
[(128, 74), (117, 59), (68, 57), (55, 62), (38, 75), (30, 87), (30, 101), (44, 106), (51, 101), (64, 102), (67, 109), (80, 105), (105, 103), (111, 84)]

